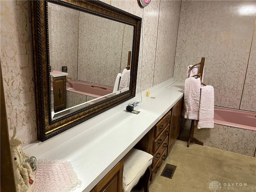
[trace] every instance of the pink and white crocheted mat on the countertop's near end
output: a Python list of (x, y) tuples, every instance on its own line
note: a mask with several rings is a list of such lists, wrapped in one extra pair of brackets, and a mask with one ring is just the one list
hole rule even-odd
[(37, 160), (35, 192), (69, 192), (82, 182), (70, 162), (64, 160)]

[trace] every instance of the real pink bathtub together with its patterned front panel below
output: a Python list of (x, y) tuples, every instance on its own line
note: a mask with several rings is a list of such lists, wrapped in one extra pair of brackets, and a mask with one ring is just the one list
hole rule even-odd
[(254, 156), (256, 150), (256, 113), (214, 108), (214, 128), (195, 129), (204, 145)]

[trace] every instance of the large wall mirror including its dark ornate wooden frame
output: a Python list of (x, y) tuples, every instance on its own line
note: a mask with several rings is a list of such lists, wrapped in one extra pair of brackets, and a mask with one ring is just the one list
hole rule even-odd
[(141, 18), (100, 1), (32, 1), (32, 28), (38, 140), (135, 96)]

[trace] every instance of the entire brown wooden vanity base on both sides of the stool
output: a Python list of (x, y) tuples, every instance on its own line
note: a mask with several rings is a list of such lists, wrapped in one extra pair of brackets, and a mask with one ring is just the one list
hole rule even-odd
[[(152, 181), (180, 134), (183, 98), (134, 146), (154, 156)], [(121, 160), (90, 192), (122, 192), (124, 162)]]

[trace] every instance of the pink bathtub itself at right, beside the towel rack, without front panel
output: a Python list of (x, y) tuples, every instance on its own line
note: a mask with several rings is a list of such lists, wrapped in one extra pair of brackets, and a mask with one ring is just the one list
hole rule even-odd
[(214, 107), (214, 124), (256, 131), (256, 113)]

